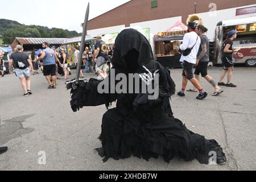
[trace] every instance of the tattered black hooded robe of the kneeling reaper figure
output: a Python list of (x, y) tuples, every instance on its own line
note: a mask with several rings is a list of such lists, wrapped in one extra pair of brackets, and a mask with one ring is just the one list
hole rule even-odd
[[(78, 89), (71, 91), (73, 111), (84, 106), (105, 104), (108, 107), (117, 101), (117, 106), (102, 117), (102, 147), (97, 148), (98, 154), (104, 162), (109, 158), (118, 160), (132, 155), (146, 160), (161, 155), (166, 162), (179, 156), (185, 161), (198, 159), (200, 163), (208, 164), (209, 152), (214, 151), (217, 163), (225, 162), (225, 154), (216, 140), (189, 131), (173, 117), (170, 97), (175, 93), (174, 81), (170, 72), (152, 59), (150, 44), (138, 31), (123, 30), (118, 35), (112, 62), (115, 74), (143, 73), (142, 65), (152, 73), (159, 70), (159, 97), (156, 100), (148, 100), (147, 93), (99, 94), (97, 86), (101, 81), (93, 78), (80, 82)], [(105, 81), (109, 82), (111, 76)]]

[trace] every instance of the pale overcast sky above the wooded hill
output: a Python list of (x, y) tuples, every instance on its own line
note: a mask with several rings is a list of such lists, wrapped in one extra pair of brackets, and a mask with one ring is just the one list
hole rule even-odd
[(92, 19), (129, 0), (7, 0), (1, 3), (0, 18), (49, 28), (64, 28), (82, 32), (86, 6), (90, 2)]

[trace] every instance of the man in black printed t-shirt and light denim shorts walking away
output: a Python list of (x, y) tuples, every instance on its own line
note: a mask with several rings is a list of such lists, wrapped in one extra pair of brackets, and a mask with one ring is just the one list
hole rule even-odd
[(17, 52), (13, 52), (10, 56), (9, 69), (14, 66), (15, 75), (19, 78), (24, 96), (29, 96), (31, 92), (30, 73), (34, 72), (32, 61), (26, 53), (23, 52), (23, 47), (16, 46)]

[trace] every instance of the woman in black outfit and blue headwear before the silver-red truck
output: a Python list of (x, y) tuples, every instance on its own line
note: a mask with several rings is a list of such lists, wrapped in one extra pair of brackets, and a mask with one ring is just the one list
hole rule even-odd
[[(233, 47), (233, 40), (237, 38), (237, 32), (235, 30), (231, 30), (228, 32), (228, 37), (224, 41), (221, 49), (221, 61), (223, 64), (224, 71), (221, 73), (220, 81), (218, 82), (219, 86), (227, 86), (227, 87), (237, 87), (237, 85), (232, 84), (232, 76), (234, 72), (234, 62), (233, 62), (233, 54), (238, 55), (239, 57), (243, 57), (242, 53), (238, 53), (238, 49)], [(228, 82), (225, 84), (223, 82), (224, 77), (228, 73)]]

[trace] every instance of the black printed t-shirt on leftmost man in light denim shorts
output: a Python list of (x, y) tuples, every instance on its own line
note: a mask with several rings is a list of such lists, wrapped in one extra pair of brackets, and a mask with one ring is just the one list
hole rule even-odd
[(29, 64), (28, 64), (28, 55), (23, 52), (14, 52), (11, 54), (10, 59), (13, 60), (14, 63), (14, 68), (18, 69), (26, 69)]

